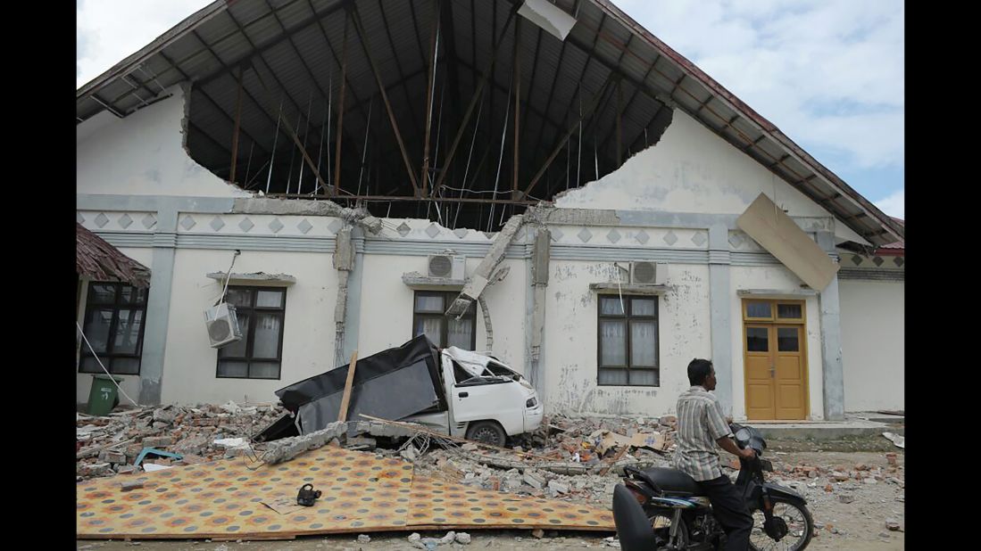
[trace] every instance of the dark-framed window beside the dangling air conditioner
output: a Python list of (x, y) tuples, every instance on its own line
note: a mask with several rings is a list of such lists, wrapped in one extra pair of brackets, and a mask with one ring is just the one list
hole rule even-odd
[(230, 286), (242, 339), (218, 349), (218, 376), (280, 378), (286, 289)]

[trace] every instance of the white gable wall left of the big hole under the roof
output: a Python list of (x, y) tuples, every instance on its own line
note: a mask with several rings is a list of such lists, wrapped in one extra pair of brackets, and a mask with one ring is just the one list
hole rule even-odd
[(108, 111), (76, 127), (76, 191), (86, 194), (248, 197), (183, 147), (184, 90), (126, 119)]

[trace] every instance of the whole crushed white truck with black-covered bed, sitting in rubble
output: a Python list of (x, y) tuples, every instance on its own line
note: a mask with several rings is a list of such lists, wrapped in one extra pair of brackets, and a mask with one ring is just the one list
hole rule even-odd
[[(253, 439), (307, 434), (339, 418), (350, 366), (311, 376), (276, 391), (289, 412)], [(360, 415), (428, 426), (451, 436), (504, 445), (507, 436), (542, 425), (538, 392), (493, 356), (419, 335), (354, 363), (347, 420)]]

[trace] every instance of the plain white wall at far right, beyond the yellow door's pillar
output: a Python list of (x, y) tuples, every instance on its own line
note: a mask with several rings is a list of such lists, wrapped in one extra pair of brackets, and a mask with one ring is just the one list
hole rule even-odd
[(839, 282), (845, 411), (905, 408), (905, 283)]

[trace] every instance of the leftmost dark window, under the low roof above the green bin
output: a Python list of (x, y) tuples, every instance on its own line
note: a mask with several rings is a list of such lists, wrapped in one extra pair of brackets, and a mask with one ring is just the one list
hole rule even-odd
[[(147, 289), (126, 283), (93, 281), (88, 284), (82, 330), (109, 373), (139, 375), (146, 294)], [(78, 371), (104, 373), (84, 342), (81, 344)]]

